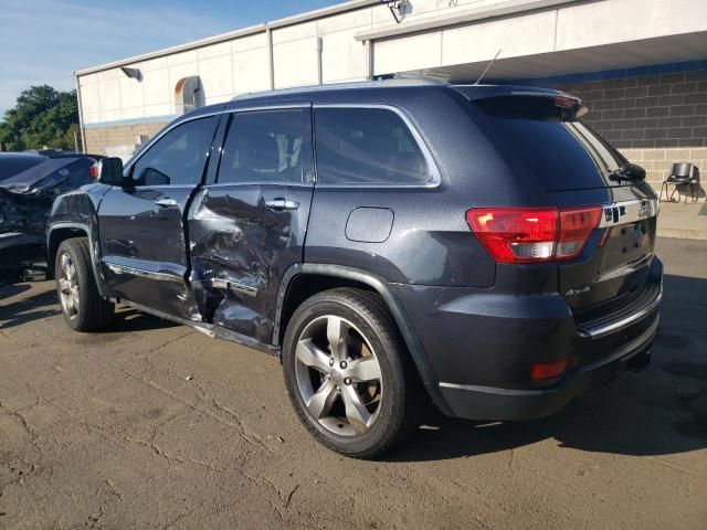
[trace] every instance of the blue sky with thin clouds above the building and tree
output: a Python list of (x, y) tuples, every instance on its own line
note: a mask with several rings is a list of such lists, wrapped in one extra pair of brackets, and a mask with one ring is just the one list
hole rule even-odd
[(0, 121), (30, 86), (341, 0), (0, 0)]

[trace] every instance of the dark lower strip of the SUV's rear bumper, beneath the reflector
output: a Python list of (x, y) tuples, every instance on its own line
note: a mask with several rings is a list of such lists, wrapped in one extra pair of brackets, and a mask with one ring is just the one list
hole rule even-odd
[(583, 364), (564, 374), (552, 386), (535, 390), (440, 383), (440, 391), (452, 415), (469, 420), (529, 420), (561, 410), (573, 398), (601, 386), (629, 365), (645, 365), (657, 330), (659, 316), (636, 339), (593, 363)]

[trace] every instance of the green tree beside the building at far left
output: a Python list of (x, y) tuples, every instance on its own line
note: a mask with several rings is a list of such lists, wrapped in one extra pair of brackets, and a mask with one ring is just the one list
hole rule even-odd
[(22, 92), (14, 108), (6, 113), (0, 124), (0, 144), (8, 151), (43, 147), (73, 149), (77, 130), (76, 91), (32, 86)]

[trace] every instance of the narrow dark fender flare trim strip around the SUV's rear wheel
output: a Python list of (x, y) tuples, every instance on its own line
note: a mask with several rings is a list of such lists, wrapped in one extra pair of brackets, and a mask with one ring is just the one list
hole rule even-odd
[(319, 264), (319, 263), (303, 263), (303, 264), (294, 264), (283, 275), (283, 280), (279, 284), (279, 289), (277, 293), (277, 309), (275, 314), (275, 326), (273, 330), (273, 343), (281, 347), (279, 344), (279, 322), (282, 320), (282, 309), (285, 304), (285, 297), (287, 292), (289, 290), (289, 286), (298, 275), (321, 275), (321, 276), (331, 276), (348, 280), (358, 282), (371, 287), (376, 293), (378, 293), (383, 301), (388, 306), (395, 324), (398, 325), (398, 329), (402, 335), (403, 340), (405, 341), (405, 346), (408, 347), (408, 351), (410, 352), (410, 357), (418, 369), (418, 373), (420, 374), (420, 379), (428, 390), (430, 398), (434, 402), (434, 404), (441, 410), (443, 414), (451, 415), (452, 411), (450, 410), (446, 401), (442, 396), (440, 392), (440, 382), (432, 369), (432, 364), (428, 358), (428, 354), (424, 350), (424, 346), (418, 336), (412, 321), (408, 317), (408, 314), (398, 299), (398, 297), (393, 294), (387, 280), (383, 278), (370, 274), (366, 271), (361, 271), (354, 267), (347, 267), (344, 265), (333, 265), (333, 264)]

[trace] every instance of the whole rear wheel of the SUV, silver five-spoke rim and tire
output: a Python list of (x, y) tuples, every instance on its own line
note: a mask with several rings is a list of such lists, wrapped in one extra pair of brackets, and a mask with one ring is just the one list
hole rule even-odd
[(320, 293), (293, 315), (283, 343), (285, 384), (299, 420), (325, 446), (373, 458), (416, 426), (416, 373), (376, 294)]

